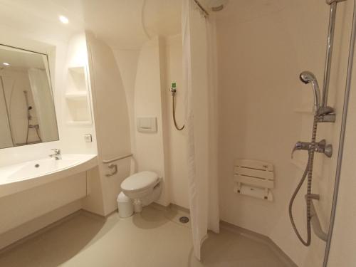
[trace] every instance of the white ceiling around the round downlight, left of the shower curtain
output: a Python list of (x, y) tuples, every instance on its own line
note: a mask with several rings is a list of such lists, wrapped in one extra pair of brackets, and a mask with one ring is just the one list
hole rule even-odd
[[(180, 33), (181, 0), (0, 0), (0, 26), (66, 40), (82, 29), (112, 48), (137, 49), (150, 36)], [(68, 25), (58, 21), (67, 16)]]

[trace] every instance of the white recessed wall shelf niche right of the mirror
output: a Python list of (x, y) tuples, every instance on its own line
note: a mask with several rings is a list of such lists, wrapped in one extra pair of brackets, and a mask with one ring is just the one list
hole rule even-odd
[(88, 74), (85, 66), (68, 68), (66, 98), (66, 123), (68, 125), (91, 125), (92, 115)]

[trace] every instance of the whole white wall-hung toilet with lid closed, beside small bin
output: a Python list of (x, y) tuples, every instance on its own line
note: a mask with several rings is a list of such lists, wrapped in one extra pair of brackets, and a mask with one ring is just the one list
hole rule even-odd
[(162, 192), (161, 179), (155, 172), (137, 172), (121, 183), (122, 192), (132, 199), (135, 212), (150, 205)]

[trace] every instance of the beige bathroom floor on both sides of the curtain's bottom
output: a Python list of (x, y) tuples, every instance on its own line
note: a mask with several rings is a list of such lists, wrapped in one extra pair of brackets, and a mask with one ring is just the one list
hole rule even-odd
[(191, 230), (177, 222), (178, 215), (150, 206), (128, 219), (77, 214), (1, 253), (0, 266), (285, 266), (265, 244), (225, 229), (209, 234), (199, 262), (192, 255)]

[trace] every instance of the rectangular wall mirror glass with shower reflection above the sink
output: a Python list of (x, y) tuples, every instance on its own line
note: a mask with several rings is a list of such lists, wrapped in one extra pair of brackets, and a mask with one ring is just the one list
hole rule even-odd
[(0, 148), (58, 138), (47, 55), (0, 45)]

